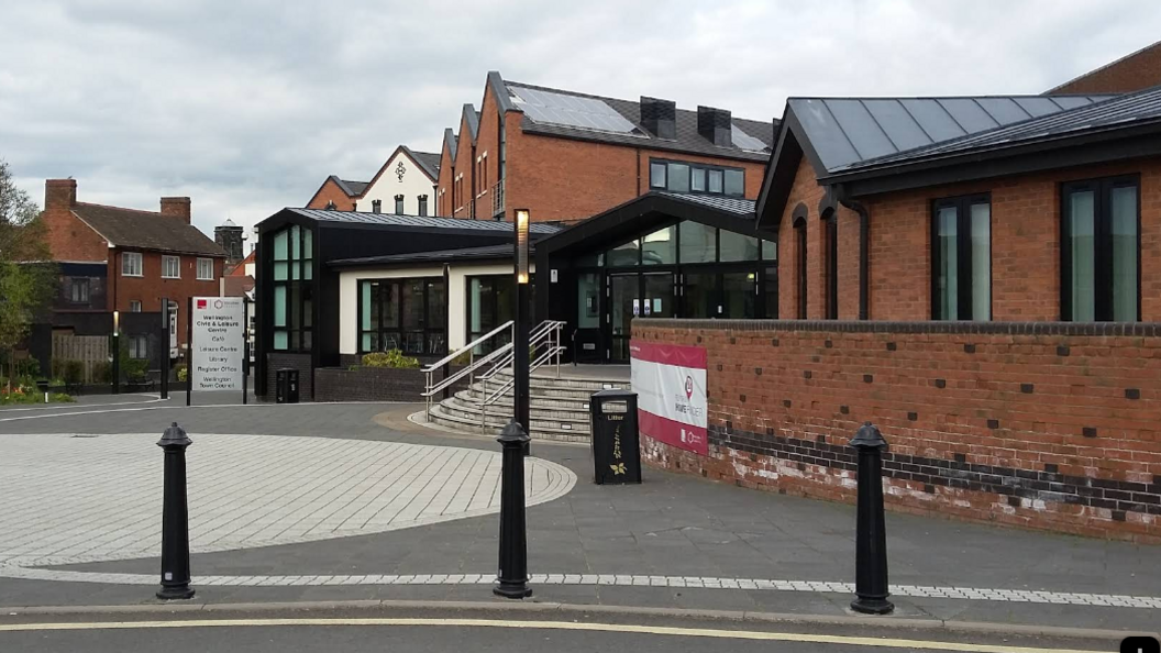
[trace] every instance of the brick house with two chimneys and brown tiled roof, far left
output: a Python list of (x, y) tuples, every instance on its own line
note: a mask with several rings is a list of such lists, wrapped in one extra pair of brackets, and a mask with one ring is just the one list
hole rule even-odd
[[(55, 329), (81, 320), (111, 324), (114, 310), (158, 313), (163, 297), (183, 311), (190, 296), (218, 295), (225, 250), (190, 224), (189, 198), (160, 204), (146, 211), (79, 202), (75, 180), (45, 181), (41, 220), (62, 268)], [(175, 324), (176, 343), (185, 343), (185, 320)]]

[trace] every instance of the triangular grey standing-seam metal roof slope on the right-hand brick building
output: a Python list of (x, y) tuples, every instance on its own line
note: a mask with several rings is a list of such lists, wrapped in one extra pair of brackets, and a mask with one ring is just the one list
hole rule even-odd
[(792, 98), (787, 108), (825, 168), (815, 172), (825, 174), (1110, 98)]

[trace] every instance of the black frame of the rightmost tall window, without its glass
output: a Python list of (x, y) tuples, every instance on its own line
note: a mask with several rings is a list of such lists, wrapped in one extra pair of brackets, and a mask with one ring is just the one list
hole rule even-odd
[(1075, 192), (1095, 193), (1093, 204), (1094, 228), (1094, 320), (1112, 322), (1112, 189), (1132, 186), (1137, 191), (1137, 320), (1141, 321), (1141, 175), (1118, 174), (1095, 179), (1066, 181), (1060, 185), (1060, 320), (1074, 322), (1073, 313), (1073, 261), (1069, 246), (1072, 203), (1069, 195)]

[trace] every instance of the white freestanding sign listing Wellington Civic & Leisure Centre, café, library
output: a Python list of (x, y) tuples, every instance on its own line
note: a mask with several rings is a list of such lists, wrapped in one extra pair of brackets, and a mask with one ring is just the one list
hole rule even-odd
[(240, 390), (243, 383), (243, 297), (194, 297), (195, 390)]

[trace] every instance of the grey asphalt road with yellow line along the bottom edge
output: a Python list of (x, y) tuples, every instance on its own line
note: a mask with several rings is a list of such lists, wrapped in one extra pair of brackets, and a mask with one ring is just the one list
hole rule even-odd
[[(903, 626), (760, 623), (505, 610), (346, 610), (0, 617), (0, 651), (361, 653), (632, 651), (748, 653), (1117, 651), (1109, 639), (954, 633)], [(949, 646), (950, 645), (950, 646)]]

